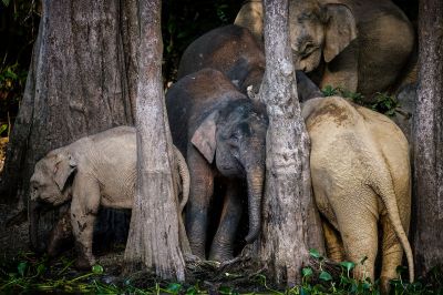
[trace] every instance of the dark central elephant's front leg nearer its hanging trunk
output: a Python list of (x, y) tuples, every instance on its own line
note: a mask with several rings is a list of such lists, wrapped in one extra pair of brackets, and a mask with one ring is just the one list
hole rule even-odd
[(223, 262), (234, 257), (234, 241), (243, 210), (239, 187), (240, 184), (235, 181), (229, 182), (228, 184), (222, 211), (220, 224), (210, 247), (210, 261)]

